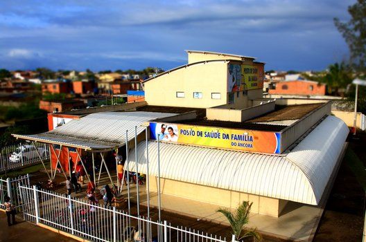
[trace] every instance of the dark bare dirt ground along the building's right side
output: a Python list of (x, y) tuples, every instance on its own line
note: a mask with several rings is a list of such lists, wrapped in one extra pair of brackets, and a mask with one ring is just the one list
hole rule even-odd
[[(349, 138), (349, 147), (366, 164), (366, 133)], [(347, 151), (348, 152), (348, 151)], [(365, 192), (345, 156), (313, 241), (362, 241)]]

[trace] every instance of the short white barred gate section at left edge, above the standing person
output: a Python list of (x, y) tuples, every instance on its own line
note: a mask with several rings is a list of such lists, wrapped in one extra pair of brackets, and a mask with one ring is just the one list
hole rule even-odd
[(5, 180), (0, 178), (0, 208), (5, 209), (4, 201), (8, 196), (12, 205), (15, 205), (18, 212), (21, 211), (21, 192), (19, 191), (19, 185), (30, 185), (29, 175), (19, 176), (18, 178), (6, 178)]

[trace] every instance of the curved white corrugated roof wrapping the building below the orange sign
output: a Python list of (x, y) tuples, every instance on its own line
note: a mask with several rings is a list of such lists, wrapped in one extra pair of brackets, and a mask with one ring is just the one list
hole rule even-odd
[[(327, 117), (286, 156), (160, 144), (162, 178), (317, 205), (349, 130)], [(157, 142), (148, 142), (149, 171), (157, 176)], [(129, 153), (135, 171), (134, 150)], [(146, 174), (146, 144), (138, 145), (139, 172)]]

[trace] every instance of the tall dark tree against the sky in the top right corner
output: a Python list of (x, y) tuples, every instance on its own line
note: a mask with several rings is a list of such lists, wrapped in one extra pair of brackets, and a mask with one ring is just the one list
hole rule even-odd
[[(348, 22), (341, 22), (334, 19), (338, 31), (345, 38), (349, 51), (351, 52), (351, 64), (356, 71), (365, 72), (366, 64), (366, 0), (358, 0), (354, 5), (348, 7), (351, 19)], [(365, 73), (364, 73), (365, 74)]]

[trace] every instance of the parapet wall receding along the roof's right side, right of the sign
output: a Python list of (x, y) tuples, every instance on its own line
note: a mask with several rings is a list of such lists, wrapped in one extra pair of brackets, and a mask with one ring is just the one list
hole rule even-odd
[(324, 103), (320, 108), (308, 113), (292, 125), (281, 131), (281, 153), (299, 139), (306, 131), (325, 115), (331, 114), (331, 102)]

